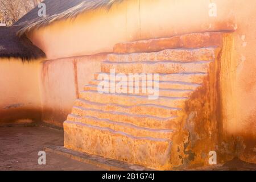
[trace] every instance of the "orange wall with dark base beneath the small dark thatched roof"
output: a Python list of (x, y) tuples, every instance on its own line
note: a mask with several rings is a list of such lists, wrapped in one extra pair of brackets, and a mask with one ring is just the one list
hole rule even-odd
[(40, 61), (0, 59), (0, 125), (40, 121)]

